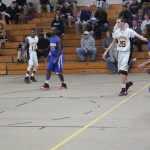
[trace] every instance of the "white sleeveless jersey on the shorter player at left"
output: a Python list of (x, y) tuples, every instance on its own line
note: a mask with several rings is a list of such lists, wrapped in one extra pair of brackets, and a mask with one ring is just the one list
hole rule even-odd
[(37, 49), (37, 43), (38, 43), (38, 36), (31, 37), (28, 36), (27, 39), (29, 40), (29, 51), (36, 51)]

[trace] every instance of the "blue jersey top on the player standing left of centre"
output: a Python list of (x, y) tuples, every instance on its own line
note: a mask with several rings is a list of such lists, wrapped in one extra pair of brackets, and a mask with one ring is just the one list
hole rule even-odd
[(58, 55), (58, 41), (60, 41), (60, 38), (58, 36), (50, 38), (50, 55), (52, 57), (57, 57)]

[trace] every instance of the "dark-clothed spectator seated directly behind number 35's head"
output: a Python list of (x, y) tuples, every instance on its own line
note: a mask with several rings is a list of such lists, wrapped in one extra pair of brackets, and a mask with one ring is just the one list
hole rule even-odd
[(122, 5), (122, 11), (119, 13), (118, 18), (124, 18), (125, 22), (129, 24), (129, 27), (132, 27), (133, 17), (126, 5)]

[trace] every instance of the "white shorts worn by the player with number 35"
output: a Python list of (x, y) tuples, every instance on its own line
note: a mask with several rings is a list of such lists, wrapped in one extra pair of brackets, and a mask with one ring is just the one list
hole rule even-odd
[(119, 53), (118, 53), (118, 72), (120, 70), (128, 72), (129, 60), (130, 60), (130, 51), (128, 51), (128, 52), (119, 51)]

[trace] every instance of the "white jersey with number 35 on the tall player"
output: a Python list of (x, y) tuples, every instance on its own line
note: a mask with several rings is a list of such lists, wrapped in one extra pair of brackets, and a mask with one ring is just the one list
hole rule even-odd
[(126, 28), (125, 30), (118, 29), (113, 34), (113, 38), (118, 40), (118, 51), (130, 51), (130, 38), (135, 37), (136, 32), (132, 29)]

